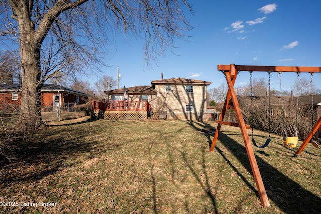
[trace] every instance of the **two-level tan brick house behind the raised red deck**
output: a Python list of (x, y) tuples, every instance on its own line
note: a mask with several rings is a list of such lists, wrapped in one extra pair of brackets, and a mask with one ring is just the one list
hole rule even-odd
[[(151, 86), (126, 88), (125, 100), (147, 101), (152, 114), (169, 119), (206, 119), (206, 91), (211, 82), (185, 78), (151, 81)], [(124, 89), (105, 91), (110, 100), (124, 100)]]

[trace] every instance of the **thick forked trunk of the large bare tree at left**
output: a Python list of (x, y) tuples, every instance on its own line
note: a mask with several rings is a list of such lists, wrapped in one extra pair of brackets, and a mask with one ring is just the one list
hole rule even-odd
[(19, 43), (21, 56), (22, 91), (20, 127), (21, 131), (27, 129), (37, 129), (43, 126), (41, 119), (41, 64), (40, 50), (41, 44), (48, 34), (48, 31), (59, 14), (73, 7), (85, 3), (87, 0), (69, 1), (59, 0), (43, 16), (41, 22), (35, 29), (35, 23), (31, 20), (32, 1), (9, 0), (13, 8), (12, 18), (17, 20), (19, 26)]

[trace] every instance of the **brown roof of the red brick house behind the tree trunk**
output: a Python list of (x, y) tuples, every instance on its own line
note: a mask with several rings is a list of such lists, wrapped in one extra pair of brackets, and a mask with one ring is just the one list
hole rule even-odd
[[(21, 90), (21, 84), (14, 84), (14, 85), (8, 85), (8, 84), (0, 84), (0, 92), (1, 91), (20, 91)], [(66, 92), (66, 93), (73, 93), (80, 96), (86, 96), (89, 97), (88, 94), (83, 93), (81, 91), (73, 90), (71, 88), (63, 87), (60, 85), (53, 85), (53, 84), (44, 84), (41, 87), (42, 92)]]

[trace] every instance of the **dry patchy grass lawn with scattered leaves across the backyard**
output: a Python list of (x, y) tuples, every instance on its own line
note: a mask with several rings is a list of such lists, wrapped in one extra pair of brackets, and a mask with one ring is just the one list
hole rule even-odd
[(200, 130), (213, 122), (48, 124), (12, 142), (18, 159), (0, 162), (0, 201), (18, 205), (0, 213), (321, 213), (321, 149), (311, 144), (298, 157), (276, 135), (253, 147), (263, 208), (239, 128), (223, 125), (209, 152), (213, 136)]

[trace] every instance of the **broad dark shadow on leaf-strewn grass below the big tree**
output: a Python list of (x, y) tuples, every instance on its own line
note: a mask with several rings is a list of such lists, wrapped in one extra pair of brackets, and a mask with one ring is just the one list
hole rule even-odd
[(30, 133), (12, 142), (18, 148), (13, 151), (17, 158), (10, 163), (0, 162), (0, 187), (40, 180), (77, 164), (77, 157), (83, 154), (92, 159), (119, 146), (97, 143), (94, 139), (83, 140), (88, 132), (93, 130), (85, 126), (69, 126), (64, 130), (47, 129)]

